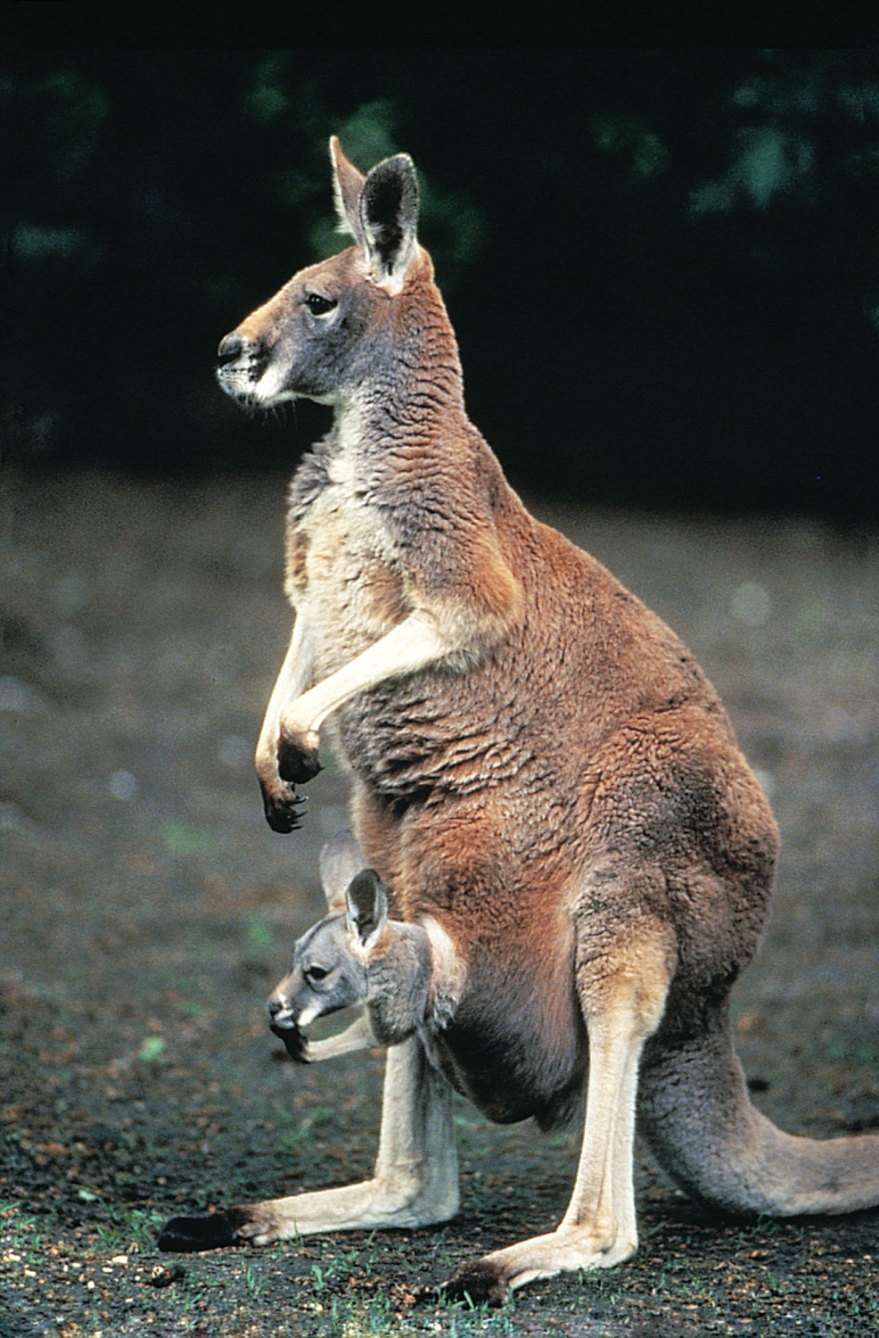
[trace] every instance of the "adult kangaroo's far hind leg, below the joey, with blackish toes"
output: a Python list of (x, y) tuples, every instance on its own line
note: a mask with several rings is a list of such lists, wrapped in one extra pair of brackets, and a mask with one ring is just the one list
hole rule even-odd
[(388, 1050), (379, 1157), (371, 1180), (249, 1203), (209, 1218), (175, 1218), (163, 1250), (269, 1244), (322, 1231), (423, 1227), (458, 1211), (451, 1090), (417, 1037)]

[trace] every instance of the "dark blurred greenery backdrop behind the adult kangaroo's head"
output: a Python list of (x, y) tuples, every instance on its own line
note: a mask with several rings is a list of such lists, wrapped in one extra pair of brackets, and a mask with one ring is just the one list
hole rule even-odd
[(879, 48), (5, 43), (3, 460), (292, 468), (325, 411), (246, 420), (211, 363), (341, 244), (337, 132), (361, 167), (413, 155), (470, 412), (516, 486), (870, 524), (878, 111)]

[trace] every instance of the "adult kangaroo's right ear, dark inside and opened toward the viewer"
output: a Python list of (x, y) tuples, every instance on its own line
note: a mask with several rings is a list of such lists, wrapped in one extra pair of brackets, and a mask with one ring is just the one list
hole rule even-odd
[(409, 155), (376, 163), (360, 193), (360, 225), (373, 278), (392, 296), (401, 292), (415, 256), (417, 221), (419, 183)]

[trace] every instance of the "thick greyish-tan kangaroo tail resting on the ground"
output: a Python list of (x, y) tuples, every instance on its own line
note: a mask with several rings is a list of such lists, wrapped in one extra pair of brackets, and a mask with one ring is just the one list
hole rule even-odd
[(735, 1215), (852, 1212), (879, 1204), (879, 1136), (792, 1137), (755, 1111), (728, 1010), (697, 1037), (657, 1038), (641, 1070), (638, 1127), (678, 1184)]

